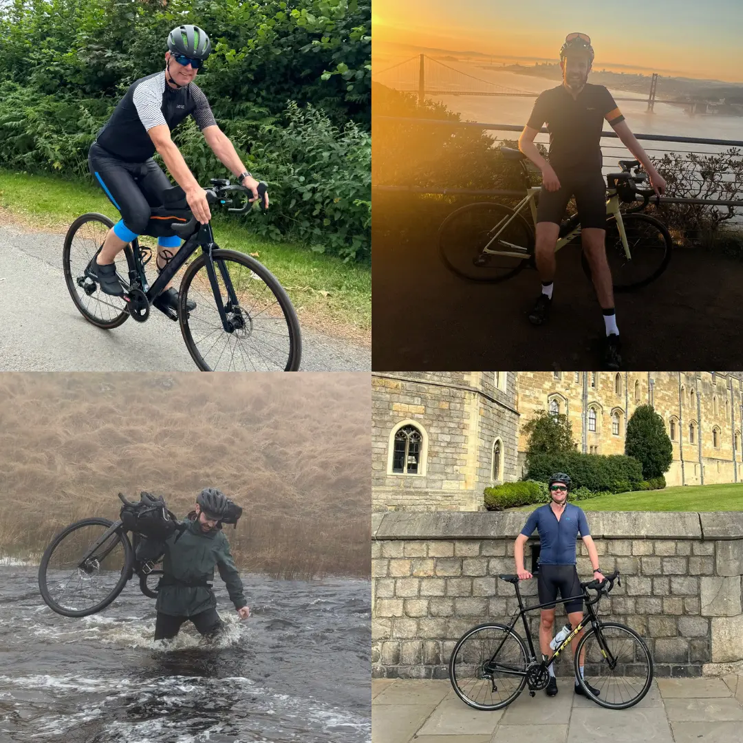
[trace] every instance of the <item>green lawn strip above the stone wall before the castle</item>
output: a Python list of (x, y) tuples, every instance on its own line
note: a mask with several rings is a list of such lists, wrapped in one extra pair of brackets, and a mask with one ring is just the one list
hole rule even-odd
[[(576, 505), (589, 510), (743, 510), (743, 483), (687, 485), (664, 490), (637, 490), (634, 493), (609, 493)], [(539, 504), (537, 504), (539, 505)], [(534, 510), (537, 505), (515, 510)]]

